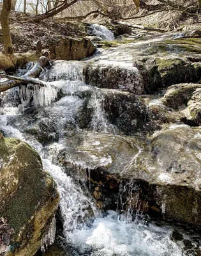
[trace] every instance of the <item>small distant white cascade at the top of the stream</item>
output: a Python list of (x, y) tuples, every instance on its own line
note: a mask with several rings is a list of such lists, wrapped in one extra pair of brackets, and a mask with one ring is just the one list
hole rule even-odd
[(99, 24), (92, 24), (90, 26), (91, 33), (103, 40), (114, 40), (114, 33), (108, 30), (105, 26)]

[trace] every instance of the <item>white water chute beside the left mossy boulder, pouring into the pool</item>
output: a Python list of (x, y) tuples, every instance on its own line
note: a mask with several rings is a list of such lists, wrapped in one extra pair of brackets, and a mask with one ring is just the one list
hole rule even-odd
[(63, 173), (61, 168), (52, 164), (50, 159), (43, 159), (45, 169), (50, 172), (57, 183), (60, 195), (60, 211), (63, 218), (64, 236), (66, 241), (73, 239), (73, 230), (82, 227), (84, 221), (96, 213), (92, 200), (84, 195), (79, 186), (73, 183), (71, 177)]

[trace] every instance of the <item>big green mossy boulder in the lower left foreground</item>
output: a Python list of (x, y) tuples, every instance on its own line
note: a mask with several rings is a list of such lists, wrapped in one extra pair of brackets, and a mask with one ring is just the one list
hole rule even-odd
[(15, 231), (6, 255), (34, 255), (59, 204), (56, 184), (27, 143), (1, 135), (0, 159), (0, 216)]

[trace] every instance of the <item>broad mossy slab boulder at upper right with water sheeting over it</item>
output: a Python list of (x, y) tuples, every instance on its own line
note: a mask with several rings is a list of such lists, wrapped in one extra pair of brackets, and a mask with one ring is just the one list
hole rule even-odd
[(134, 41), (103, 51), (87, 61), (86, 83), (145, 94), (198, 81), (200, 65), (194, 63), (200, 60), (198, 42), (181, 40), (179, 47), (177, 40), (164, 40), (158, 36), (158, 40)]

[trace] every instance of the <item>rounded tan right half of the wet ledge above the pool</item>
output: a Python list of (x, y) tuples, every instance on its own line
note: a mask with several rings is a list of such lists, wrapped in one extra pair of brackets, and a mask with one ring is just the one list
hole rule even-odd
[(199, 132), (188, 125), (172, 125), (154, 134), (151, 145), (125, 172), (137, 181), (139, 198), (150, 214), (201, 225)]

